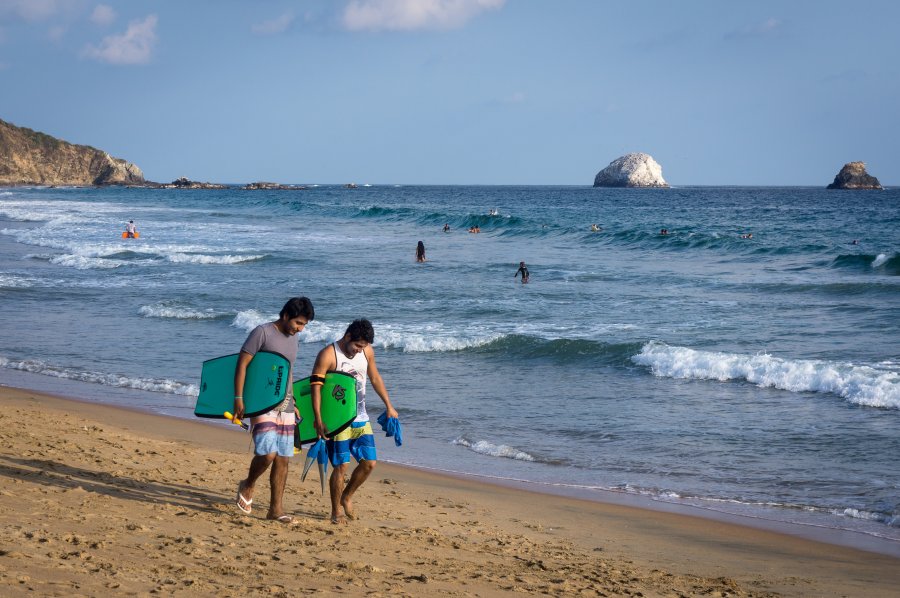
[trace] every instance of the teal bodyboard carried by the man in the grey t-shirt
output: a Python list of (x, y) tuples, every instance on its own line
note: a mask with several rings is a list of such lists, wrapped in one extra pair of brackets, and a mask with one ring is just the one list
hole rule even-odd
[[(234, 411), (234, 370), (238, 354), (225, 355), (203, 362), (200, 373), (200, 395), (194, 415), (222, 417)], [(271, 411), (284, 400), (290, 384), (291, 364), (279, 353), (259, 351), (247, 366), (244, 380), (244, 417)]]

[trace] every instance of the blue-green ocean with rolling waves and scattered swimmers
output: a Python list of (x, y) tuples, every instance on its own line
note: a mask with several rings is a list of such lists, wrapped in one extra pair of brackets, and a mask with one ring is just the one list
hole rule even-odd
[(298, 377), (374, 324), (382, 460), (900, 546), (897, 189), (6, 188), (0, 248), (5, 385), (192, 418), (306, 295)]

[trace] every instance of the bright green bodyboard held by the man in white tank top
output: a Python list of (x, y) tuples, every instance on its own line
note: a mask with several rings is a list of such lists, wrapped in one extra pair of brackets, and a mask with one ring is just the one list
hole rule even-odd
[[(294, 435), (294, 446), (313, 442), (318, 438), (313, 427), (315, 416), (312, 411), (312, 391), (309, 378), (294, 382), (294, 401), (300, 412), (297, 433)], [(329, 436), (344, 430), (356, 419), (356, 378), (343, 372), (325, 374), (322, 385), (322, 423)]]

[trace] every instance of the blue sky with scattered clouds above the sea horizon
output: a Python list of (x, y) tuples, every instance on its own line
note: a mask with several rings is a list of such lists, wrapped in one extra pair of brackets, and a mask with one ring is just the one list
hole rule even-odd
[(148, 180), (900, 184), (896, 0), (0, 0), (0, 119)]

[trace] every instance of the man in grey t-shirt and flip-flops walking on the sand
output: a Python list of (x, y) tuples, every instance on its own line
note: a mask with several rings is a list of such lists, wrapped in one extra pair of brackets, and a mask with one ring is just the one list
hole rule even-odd
[[(293, 370), (293, 363), (297, 360), (297, 333), (315, 317), (312, 302), (306, 297), (293, 297), (281, 308), (278, 319), (274, 322), (261, 324), (254, 328), (238, 357), (237, 366), (234, 369), (234, 416), (235, 419), (244, 417), (244, 381), (247, 378), (247, 366), (259, 351), (271, 351), (279, 353), (287, 358)], [(281, 523), (290, 523), (293, 517), (284, 512), (284, 486), (287, 482), (288, 459), (294, 456), (294, 428), (297, 408), (294, 406), (294, 396), (290, 381), (293, 380), (288, 372), (287, 395), (285, 399), (272, 408), (250, 419), (250, 431), (253, 434), (254, 457), (250, 461), (250, 471), (247, 479), (238, 483), (237, 508), (247, 515), (253, 508), (253, 494), (256, 489), (256, 481), (272, 466), (269, 474), (269, 488), (271, 500), (266, 519), (273, 519)]]

